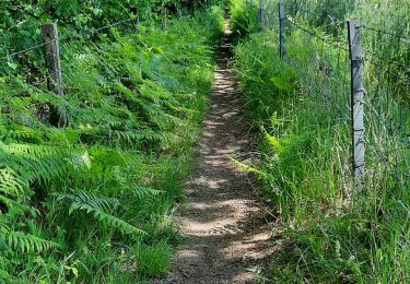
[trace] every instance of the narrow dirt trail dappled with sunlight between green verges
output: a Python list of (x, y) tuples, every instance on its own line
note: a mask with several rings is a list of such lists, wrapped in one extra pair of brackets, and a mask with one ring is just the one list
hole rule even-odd
[(199, 167), (187, 182), (188, 201), (178, 214), (186, 241), (167, 283), (254, 283), (261, 260), (272, 250), (253, 178), (231, 162), (249, 162), (255, 149), (249, 126), (241, 121), (237, 82), (229, 68), (231, 49), (227, 19)]

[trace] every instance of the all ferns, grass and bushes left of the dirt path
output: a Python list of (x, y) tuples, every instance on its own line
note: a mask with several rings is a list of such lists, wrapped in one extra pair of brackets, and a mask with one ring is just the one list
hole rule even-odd
[[(1, 2), (1, 54), (38, 42), (38, 22), (58, 19), (62, 33), (86, 34), (129, 16), (132, 4), (27, 2)], [(159, 13), (166, 4), (143, 2)], [(125, 25), (61, 42), (63, 97), (47, 92), (40, 50), (2, 60), (0, 283), (136, 283), (167, 273), (172, 215), (223, 19), (213, 8), (145, 20), (138, 33)], [(56, 123), (61, 109), (67, 128)]]

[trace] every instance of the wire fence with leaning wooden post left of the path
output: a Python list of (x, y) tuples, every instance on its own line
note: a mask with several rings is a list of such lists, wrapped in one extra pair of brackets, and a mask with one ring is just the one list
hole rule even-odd
[[(67, 111), (69, 106), (65, 96), (73, 91), (69, 86), (72, 85), (72, 80), (81, 80), (80, 76), (75, 75), (75, 72), (81, 64), (80, 61), (84, 61), (77, 58), (75, 55), (82, 55), (83, 52), (80, 50), (83, 50), (84, 47), (98, 50), (98, 43), (104, 43), (103, 37), (116, 37), (117, 31), (134, 34), (143, 25), (149, 24), (148, 22), (140, 22), (139, 15), (133, 14), (134, 16), (129, 19), (82, 32), (67, 33), (69, 28), (61, 25), (65, 31), (63, 36), (58, 35), (56, 23), (46, 23), (42, 25), (42, 36), (39, 36), (37, 44), (1, 56), (0, 78), (3, 82), (0, 83), (4, 83), (0, 85), (2, 116), (4, 118), (17, 117), (17, 120), (26, 117), (25, 119), (32, 121), (30, 115), (23, 114), (27, 111), (26, 108), (21, 109), (22, 114), (10, 114), (8, 105), (17, 102), (21, 97), (42, 96), (48, 97), (46, 100), (49, 100), (49, 103), (37, 103), (37, 109), (35, 110), (37, 118), (42, 121), (49, 120), (55, 127), (68, 126)], [(113, 31), (113, 33), (106, 33), (112, 28), (119, 27), (121, 28)], [(103, 37), (98, 38), (99, 36)], [(43, 37), (43, 42), (40, 42), (40, 37)], [(78, 45), (78, 47), (73, 47), (73, 45)], [(84, 75), (86, 76), (86, 74)], [(68, 84), (63, 81), (63, 78)], [(56, 125), (56, 121), (51, 121), (52, 111), (56, 111), (59, 117), (58, 125)], [(26, 122), (22, 121), (23, 125)], [(33, 123), (37, 122), (33, 120)]]

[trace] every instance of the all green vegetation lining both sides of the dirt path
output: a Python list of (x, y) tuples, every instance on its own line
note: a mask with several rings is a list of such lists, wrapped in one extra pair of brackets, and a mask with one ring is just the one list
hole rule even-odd
[[(1, 1), (0, 283), (138, 283), (168, 272), (175, 203), (213, 81), (223, 17), (209, 7), (219, 2)], [(283, 2), (285, 60), (278, 1), (265, 1), (263, 28), (257, 5), (231, 0), (234, 67), (260, 131), (259, 164), (244, 168), (260, 177), (278, 215), (279, 253), (265, 276), (406, 283), (407, 1)], [(127, 19), (134, 21), (99, 29)], [(366, 115), (362, 192), (352, 178), (350, 71), (340, 46), (348, 19), (365, 24), (365, 103), (377, 106)], [(13, 55), (40, 44), (47, 21), (62, 38), (62, 97), (47, 91), (40, 47)], [(377, 55), (394, 63), (372, 64), (385, 63)]]

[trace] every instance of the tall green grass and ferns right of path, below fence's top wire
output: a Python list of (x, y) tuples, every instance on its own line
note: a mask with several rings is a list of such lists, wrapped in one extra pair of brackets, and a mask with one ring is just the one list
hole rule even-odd
[[(368, 110), (371, 178), (365, 192), (355, 192), (350, 85), (342, 83), (350, 76), (349, 62), (342, 63), (347, 55), (330, 40), (290, 31), (290, 56), (280, 60), (278, 42), (276, 33), (266, 31), (235, 48), (244, 105), (262, 137), (261, 162), (250, 170), (259, 175), (262, 196), (279, 213), (278, 226), (283, 230), (283, 242), (277, 244), (280, 252), (267, 276), (278, 283), (406, 282), (410, 273), (408, 147), (390, 139), (391, 133), (377, 132), (377, 120)], [(332, 73), (325, 72), (324, 66), (333, 67)], [(375, 88), (374, 72), (388, 85), (380, 70), (366, 66), (370, 93)], [(389, 97), (383, 87), (377, 94)], [(378, 106), (391, 107), (389, 102), (380, 99)], [(405, 111), (402, 120), (409, 121)], [(393, 149), (386, 157), (394, 163), (379, 159), (380, 151)]]

